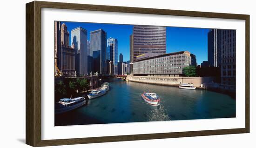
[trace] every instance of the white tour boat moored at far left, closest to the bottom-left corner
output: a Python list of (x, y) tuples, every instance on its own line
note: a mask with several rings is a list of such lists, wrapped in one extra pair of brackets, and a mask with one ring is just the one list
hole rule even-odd
[(63, 98), (56, 103), (55, 114), (61, 114), (67, 111), (71, 111), (75, 108), (81, 107), (84, 104), (86, 104), (86, 100), (84, 97), (77, 97), (74, 99)]

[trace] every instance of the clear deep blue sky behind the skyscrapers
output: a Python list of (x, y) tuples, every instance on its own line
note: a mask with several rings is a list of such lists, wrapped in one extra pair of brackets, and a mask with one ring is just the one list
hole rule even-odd
[[(71, 30), (76, 27), (83, 27), (88, 32), (90, 40), (90, 31), (103, 29), (109, 37), (118, 40), (118, 58), (123, 54), (123, 61), (130, 60), (130, 34), (132, 34), (133, 25), (103, 24), (103, 23), (81, 23), (81, 22), (62, 22), (67, 25), (67, 30), (71, 36)], [(187, 27), (167, 27), (166, 30), (166, 53), (189, 51), (196, 55), (197, 64), (207, 61), (207, 33), (209, 29), (187, 28)], [(69, 37), (71, 45), (71, 37)], [(119, 59), (118, 59), (119, 60)]]

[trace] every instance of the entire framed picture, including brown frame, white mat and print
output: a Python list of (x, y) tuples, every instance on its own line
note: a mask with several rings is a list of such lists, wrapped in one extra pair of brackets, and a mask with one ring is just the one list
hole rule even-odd
[(238, 133), (249, 15), (26, 4), (28, 145)]

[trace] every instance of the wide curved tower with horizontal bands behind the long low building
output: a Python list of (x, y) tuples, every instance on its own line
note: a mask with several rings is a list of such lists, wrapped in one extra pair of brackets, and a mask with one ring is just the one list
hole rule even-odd
[(145, 53), (166, 54), (166, 27), (134, 25), (133, 62)]

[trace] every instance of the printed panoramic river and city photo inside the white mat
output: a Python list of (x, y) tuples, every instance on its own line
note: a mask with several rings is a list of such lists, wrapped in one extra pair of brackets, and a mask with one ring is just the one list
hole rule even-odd
[(236, 30), (55, 21), (54, 76), (55, 126), (233, 118)]

